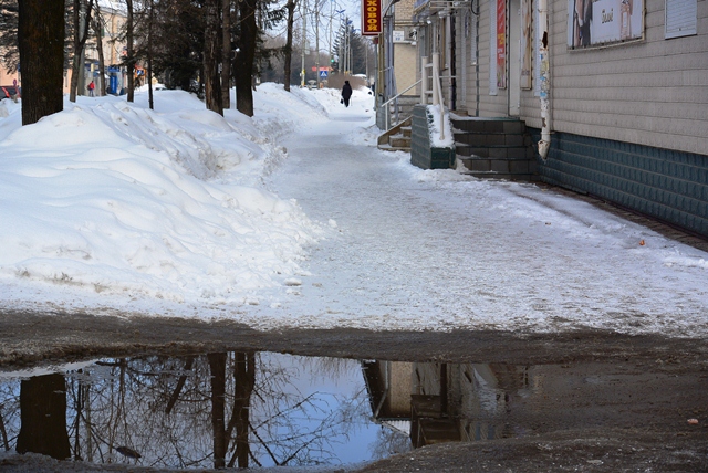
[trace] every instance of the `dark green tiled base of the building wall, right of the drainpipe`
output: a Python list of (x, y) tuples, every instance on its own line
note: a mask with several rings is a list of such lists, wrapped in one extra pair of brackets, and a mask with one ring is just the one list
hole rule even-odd
[[(529, 129), (534, 141), (540, 130)], [(545, 182), (587, 192), (708, 236), (708, 156), (554, 133)]]

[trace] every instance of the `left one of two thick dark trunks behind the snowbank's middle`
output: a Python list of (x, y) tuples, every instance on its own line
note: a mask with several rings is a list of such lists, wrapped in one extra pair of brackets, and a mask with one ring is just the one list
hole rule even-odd
[(207, 108), (223, 115), (221, 105), (221, 77), (219, 75), (219, 20), (220, 0), (207, 0), (207, 24), (204, 31), (204, 80)]

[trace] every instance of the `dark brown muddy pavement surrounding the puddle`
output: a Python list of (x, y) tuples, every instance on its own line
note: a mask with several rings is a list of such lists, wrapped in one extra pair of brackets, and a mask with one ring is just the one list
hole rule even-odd
[[(527, 412), (523, 414), (527, 421), (542, 427), (532, 429), (528, 435), (427, 445), (360, 465), (362, 472), (708, 471), (706, 340), (603, 332), (532, 335), (494, 330), (258, 332), (226, 320), (0, 313), (0, 369), (6, 371), (97, 357), (227, 350), (391, 361), (548, 366), (544, 369), (566, 369), (569, 374), (579, 367), (594, 367), (587, 368), (584, 375), (581, 372), (579, 379), (584, 383), (592, 383), (593, 369), (602, 371), (603, 367), (613, 367), (624, 376), (589, 390), (573, 386), (566, 387), (566, 391), (559, 390), (559, 409), (570, 408), (565, 417), (543, 419)], [(626, 380), (637, 386), (628, 386)], [(613, 414), (618, 421), (604, 428), (597, 427), (597, 422), (583, 428), (582, 419), (573, 418), (575, 407), (584, 414)], [(694, 418), (698, 423), (689, 424), (688, 420)], [(156, 471), (135, 465), (56, 462), (38, 455), (0, 456), (2, 471), (128, 469)], [(332, 467), (330, 471), (345, 470)]]

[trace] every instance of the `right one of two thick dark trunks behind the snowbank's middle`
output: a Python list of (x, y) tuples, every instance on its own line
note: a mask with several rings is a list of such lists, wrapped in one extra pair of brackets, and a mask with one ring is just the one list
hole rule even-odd
[(256, 56), (256, 25), (257, 0), (239, 1), (241, 18), (241, 34), (239, 35), (239, 65), (235, 71), (236, 78), (236, 109), (243, 115), (253, 116), (253, 57)]

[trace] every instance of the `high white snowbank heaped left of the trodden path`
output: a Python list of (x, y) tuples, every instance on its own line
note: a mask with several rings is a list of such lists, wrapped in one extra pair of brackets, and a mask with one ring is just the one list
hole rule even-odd
[[(281, 133), (305, 116), (324, 119), (317, 104), (288, 107), (284, 95), (261, 97)], [(238, 304), (301, 273), (323, 231), (262, 185), (284, 150), (238, 112), (223, 118), (176, 91), (155, 101), (158, 112), (82, 97), (25, 127), (19, 107), (9, 111), (0, 283)]]

